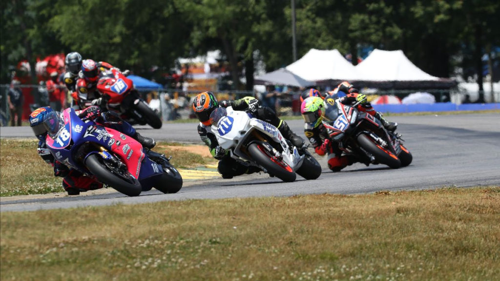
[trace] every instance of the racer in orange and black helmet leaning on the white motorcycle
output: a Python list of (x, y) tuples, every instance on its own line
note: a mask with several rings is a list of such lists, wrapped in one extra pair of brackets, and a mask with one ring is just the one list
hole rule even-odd
[(207, 131), (211, 130), (210, 113), (219, 106), (232, 106), (234, 110), (249, 109), (255, 117), (276, 126), (281, 134), (297, 148), (302, 148), (304, 144), (304, 140), (296, 135), (285, 121), (279, 119), (268, 107), (260, 106), (260, 102), (254, 97), (246, 96), (237, 100), (222, 100), (219, 103), (213, 93), (202, 92), (196, 95), (192, 104), (194, 114), (200, 121), (198, 134), (209, 147), (212, 156), (219, 160), (217, 170), (222, 175), (222, 178), (232, 178), (243, 173), (253, 173), (259, 171), (259, 169), (253, 166), (245, 166), (232, 159), (228, 151), (218, 145), (215, 135), (211, 131)]

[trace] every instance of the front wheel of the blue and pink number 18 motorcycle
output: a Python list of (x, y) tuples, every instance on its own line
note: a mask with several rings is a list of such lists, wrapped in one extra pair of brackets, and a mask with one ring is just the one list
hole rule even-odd
[(128, 171), (126, 174), (118, 170), (113, 170), (109, 165), (105, 165), (103, 159), (96, 154), (90, 154), (85, 159), (85, 166), (95, 175), (101, 183), (111, 186), (117, 191), (128, 195), (137, 196), (142, 191), (140, 182)]

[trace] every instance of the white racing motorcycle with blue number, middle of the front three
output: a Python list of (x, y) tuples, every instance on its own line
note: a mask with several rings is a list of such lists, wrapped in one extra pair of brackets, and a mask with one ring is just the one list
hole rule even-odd
[(305, 179), (321, 174), (321, 165), (307, 149), (297, 149), (275, 126), (250, 112), (218, 107), (210, 114), (210, 122), (219, 145), (243, 165), (256, 166), (289, 182), (296, 174)]

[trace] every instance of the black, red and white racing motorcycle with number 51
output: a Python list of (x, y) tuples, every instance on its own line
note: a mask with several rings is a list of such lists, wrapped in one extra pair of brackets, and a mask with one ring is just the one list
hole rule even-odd
[(323, 125), (331, 139), (338, 143), (343, 155), (360, 162), (385, 164), (391, 168), (407, 166), (412, 155), (402, 144), (401, 134), (385, 129), (380, 120), (339, 99), (325, 98)]

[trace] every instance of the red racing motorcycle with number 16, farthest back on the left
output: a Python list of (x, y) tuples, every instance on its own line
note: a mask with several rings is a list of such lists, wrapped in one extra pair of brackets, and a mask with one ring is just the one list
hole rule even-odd
[(155, 129), (161, 128), (160, 117), (133, 88), (132, 80), (119, 70), (112, 68), (102, 71), (97, 90), (102, 94), (101, 107), (107, 106), (107, 109), (118, 112), (122, 119), (131, 124), (148, 124)]

